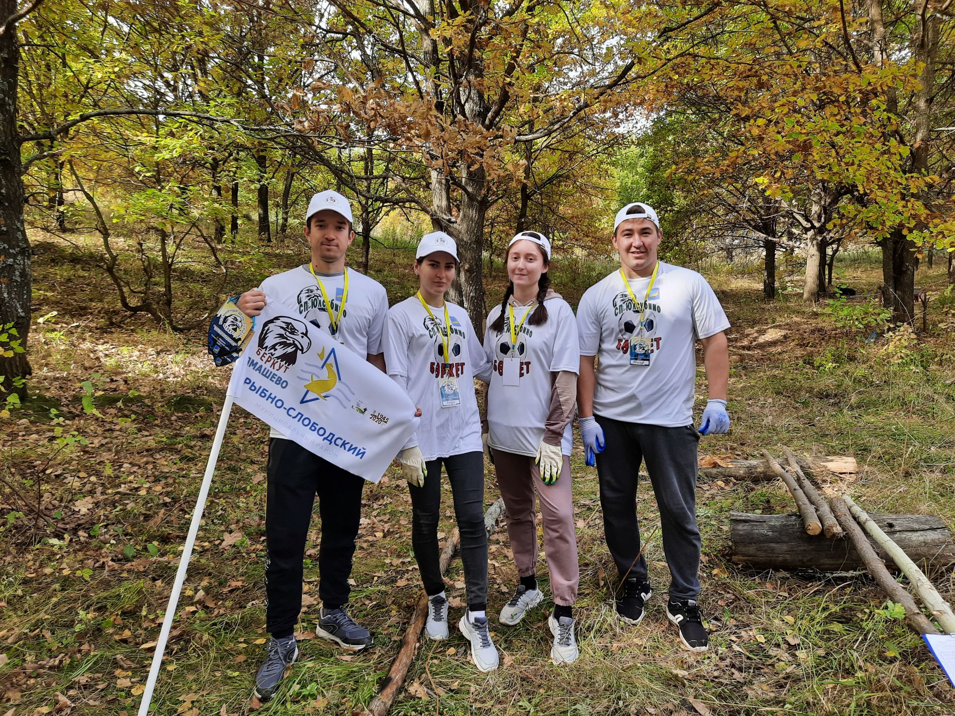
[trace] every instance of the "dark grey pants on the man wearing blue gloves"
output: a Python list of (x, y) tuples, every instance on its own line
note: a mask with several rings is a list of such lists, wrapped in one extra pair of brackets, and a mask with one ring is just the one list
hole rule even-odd
[[(700, 435), (692, 425), (661, 428), (624, 423), (595, 415), (606, 447), (597, 455), (604, 533), (620, 577), (647, 579), (637, 523), (637, 473), (641, 460), (660, 509), (663, 551), (667, 556), (669, 596), (695, 600), (700, 594), (700, 531), (696, 527), (696, 448)], [(637, 558), (637, 555), (640, 558)]]

